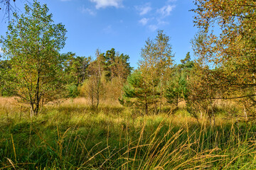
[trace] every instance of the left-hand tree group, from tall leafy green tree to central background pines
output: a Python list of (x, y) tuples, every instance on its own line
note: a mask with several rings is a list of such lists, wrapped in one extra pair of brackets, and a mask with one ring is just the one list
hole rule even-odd
[(0, 61), (1, 95), (16, 96), (26, 103), (32, 117), (45, 103), (78, 96), (83, 86), (88, 86), (85, 95), (90, 96), (92, 105), (97, 101), (97, 106), (110, 84), (118, 86), (121, 93), (132, 70), (128, 55), (119, 55), (114, 48), (106, 53), (97, 51), (95, 60), (72, 52), (61, 54), (65, 27), (53, 23), (46, 4), (34, 1), (25, 9), (21, 16), (14, 13), (6, 36), (0, 39), (4, 52)]

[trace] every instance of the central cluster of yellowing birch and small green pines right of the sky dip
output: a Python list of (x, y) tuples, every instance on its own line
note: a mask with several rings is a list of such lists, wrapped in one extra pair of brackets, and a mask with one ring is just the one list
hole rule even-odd
[(193, 61), (188, 52), (181, 64), (174, 64), (170, 38), (159, 30), (154, 40), (146, 40), (139, 68), (124, 86), (120, 103), (142, 108), (145, 114), (159, 113), (163, 106), (188, 98), (188, 80)]

